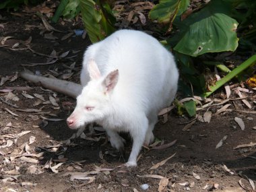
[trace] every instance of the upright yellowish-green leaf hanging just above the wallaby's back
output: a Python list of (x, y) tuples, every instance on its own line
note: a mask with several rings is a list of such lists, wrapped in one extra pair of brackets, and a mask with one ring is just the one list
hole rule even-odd
[[(82, 20), (92, 42), (98, 42), (115, 31), (113, 13), (107, 3), (100, 1), (80, 0)], [(104, 7), (104, 9), (102, 9)]]

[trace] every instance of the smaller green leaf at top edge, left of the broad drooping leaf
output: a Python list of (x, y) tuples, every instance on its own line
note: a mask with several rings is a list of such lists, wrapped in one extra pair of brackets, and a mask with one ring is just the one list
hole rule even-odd
[(178, 15), (187, 10), (189, 0), (161, 0), (150, 11), (150, 19), (158, 20), (159, 23), (169, 23)]

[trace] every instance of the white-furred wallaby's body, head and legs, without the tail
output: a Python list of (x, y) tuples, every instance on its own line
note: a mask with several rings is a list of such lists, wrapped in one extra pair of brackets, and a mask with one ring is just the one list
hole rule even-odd
[(119, 30), (84, 54), (84, 88), (67, 123), (72, 129), (92, 122), (102, 125), (119, 150), (124, 139), (118, 132), (129, 132), (133, 147), (127, 166), (136, 166), (143, 143), (154, 140), (158, 112), (174, 99), (178, 78), (172, 54), (158, 40), (143, 32)]

